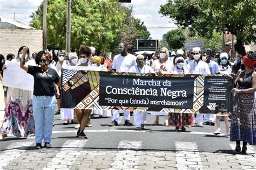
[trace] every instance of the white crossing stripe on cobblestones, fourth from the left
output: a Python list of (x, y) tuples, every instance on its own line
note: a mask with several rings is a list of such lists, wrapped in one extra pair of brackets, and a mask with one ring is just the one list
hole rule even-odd
[(203, 169), (197, 143), (176, 141), (177, 169)]

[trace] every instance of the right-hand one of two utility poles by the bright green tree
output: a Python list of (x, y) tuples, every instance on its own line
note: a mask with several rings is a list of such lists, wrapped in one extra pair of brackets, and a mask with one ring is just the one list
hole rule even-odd
[(67, 1), (67, 17), (66, 17), (66, 53), (70, 53), (70, 32), (71, 32), (71, 0)]

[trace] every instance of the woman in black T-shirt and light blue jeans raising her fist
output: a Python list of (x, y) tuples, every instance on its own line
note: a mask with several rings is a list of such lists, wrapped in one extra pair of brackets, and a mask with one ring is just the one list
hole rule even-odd
[(34, 77), (33, 91), (33, 116), (35, 118), (36, 128), (36, 149), (44, 147), (51, 148), (52, 124), (55, 113), (56, 90), (55, 84), (60, 84), (59, 75), (55, 69), (51, 69), (49, 59), (45, 52), (40, 51), (36, 56), (37, 66), (25, 65), (25, 54), (28, 48), (23, 48), (21, 58), (21, 68)]

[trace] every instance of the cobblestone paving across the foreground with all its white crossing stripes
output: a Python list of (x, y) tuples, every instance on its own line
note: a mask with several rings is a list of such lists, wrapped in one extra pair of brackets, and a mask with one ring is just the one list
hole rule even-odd
[[(0, 151), (0, 169), (23, 169), (29, 168), (30, 164), (33, 169), (256, 168), (255, 149), (250, 145), (247, 146), (247, 155), (233, 155), (200, 152), (197, 143), (184, 141), (176, 141), (174, 152), (144, 151), (143, 141), (130, 140), (120, 141), (114, 151), (95, 151), (86, 148), (88, 142), (85, 139), (67, 140), (59, 150), (51, 148), (35, 151), (29, 149), (35, 147), (33, 141), (12, 143)], [(230, 146), (230, 150), (234, 150), (235, 145)], [(101, 161), (98, 160), (100, 158)], [(95, 161), (100, 161), (100, 164), (95, 165)]]

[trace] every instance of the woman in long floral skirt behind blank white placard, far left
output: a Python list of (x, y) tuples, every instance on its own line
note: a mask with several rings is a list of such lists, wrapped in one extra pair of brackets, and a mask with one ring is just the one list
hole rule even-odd
[[(24, 47), (26, 46), (19, 48), (16, 58), (11, 62), (19, 63), (22, 55), (24, 55), (26, 64), (31, 65), (33, 63), (30, 57), (29, 48), (26, 47), (27, 50), (24, 51)], [(6, 69), (6, 65), (3, 66), (3, 70), (4, 69)], [(8, 134), (21, 138), (35, 136), (32, 94), (33, 91), (8, 87), (6, 97), (8, 102), (5, 107), (4, 122), (0, 140), (3, 140)]]

